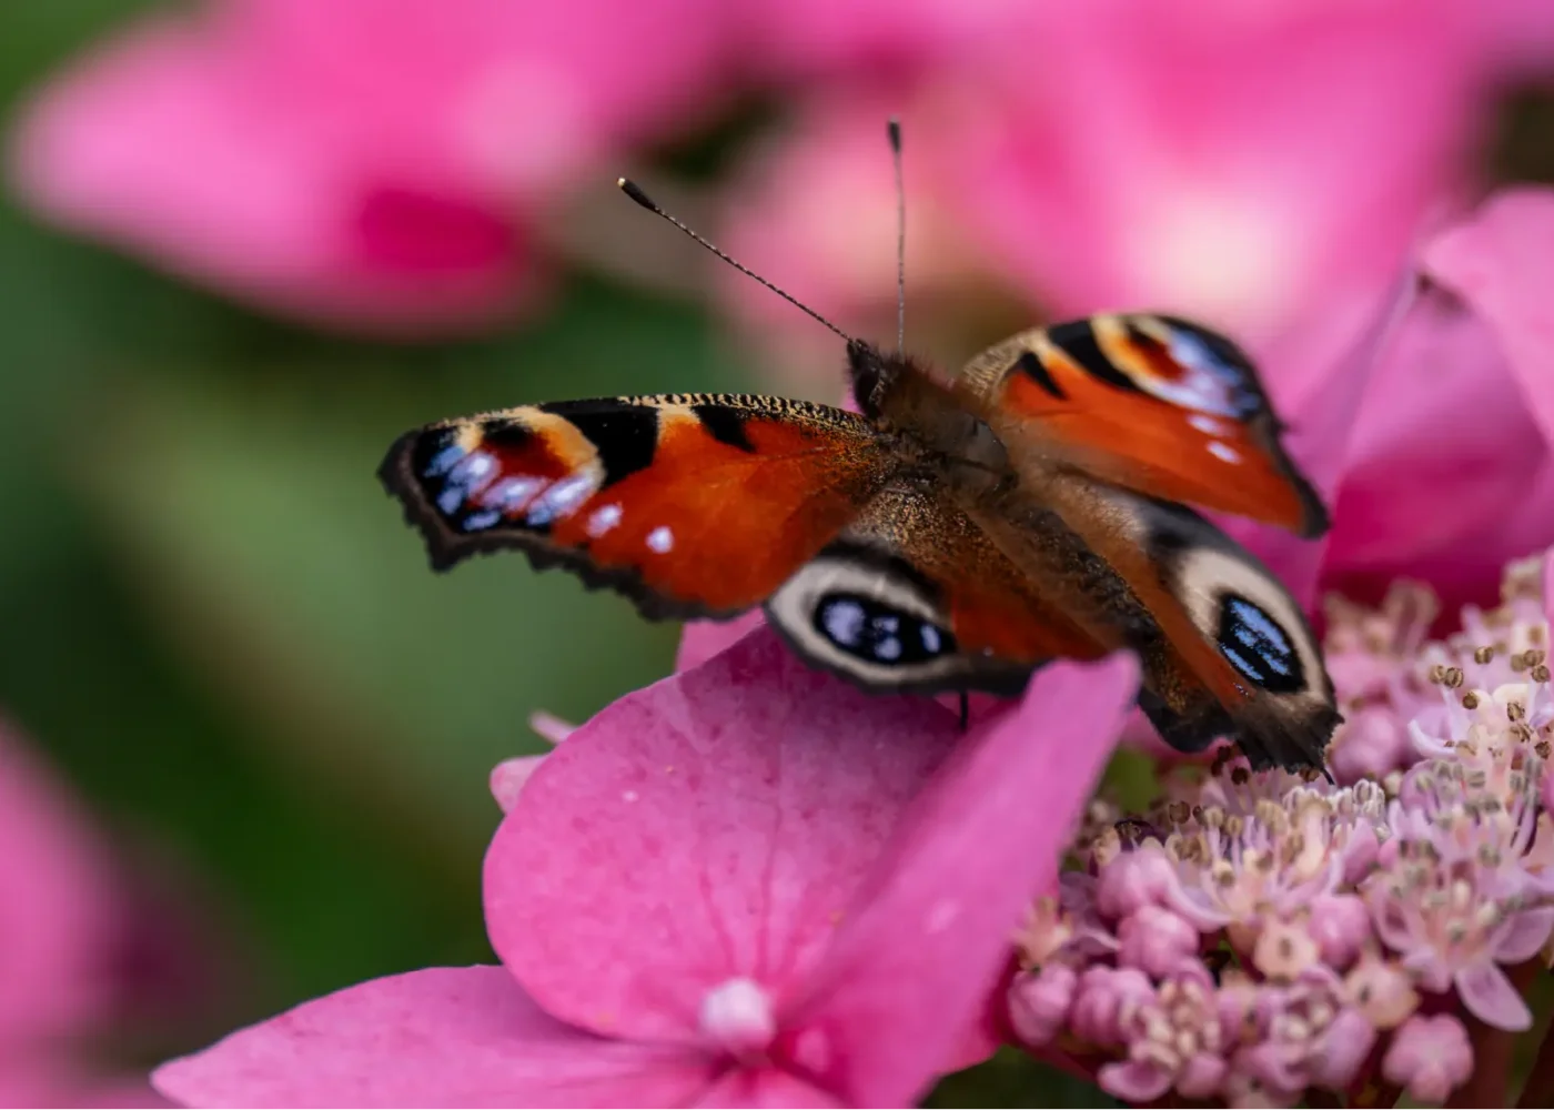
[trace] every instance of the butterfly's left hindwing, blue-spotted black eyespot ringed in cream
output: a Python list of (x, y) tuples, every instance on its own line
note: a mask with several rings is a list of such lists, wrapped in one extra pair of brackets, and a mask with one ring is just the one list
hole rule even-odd
[(943, 490), (892, 482), (766, 603), (811, 664), (880, 690), (1019, 693), (1054, 658), (1105, 648)]

